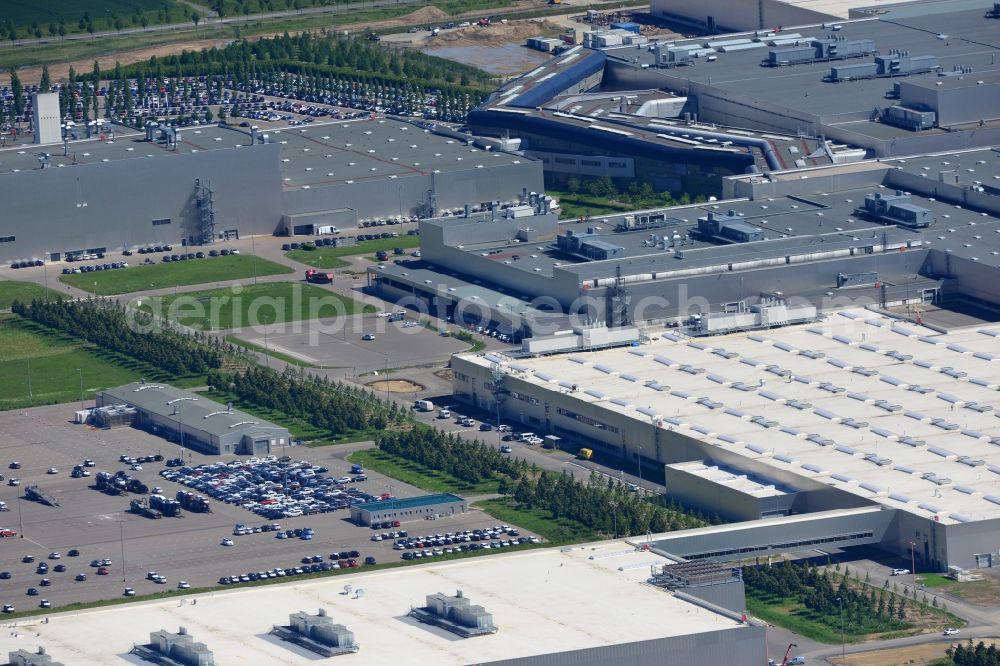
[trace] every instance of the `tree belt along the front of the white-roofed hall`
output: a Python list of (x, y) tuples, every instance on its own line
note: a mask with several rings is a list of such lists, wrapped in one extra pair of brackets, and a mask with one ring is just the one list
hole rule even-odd
[(380, 437), (377, 446), (469, 483), (498, 479), (497, 491), (518, 505), (548, 511), (553, 518), (570, 518), (604, 534), (639, 535), (708, 524), (703, 516), (677, 505), (647, 501), (616, 479), (593, 474), (584, 483), (565, 472), (540, 471), (479, 440), (465, 441), (453, 433), (431, 429), (390, 433)]

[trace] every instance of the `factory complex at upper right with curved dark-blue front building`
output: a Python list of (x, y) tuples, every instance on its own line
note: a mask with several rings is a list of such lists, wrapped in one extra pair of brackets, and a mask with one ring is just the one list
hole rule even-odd
[[(663, 0), (651, 11), (712, 4), (726, 9), (720, 17), (758, 9)], [(543, 160), (549, 182), (608, 176), (690, 194), (718, 194), (739, 173), (992, 146), (1000, 44), (990, 9), (929, 0), (669, 41), (595, 30), (507, 83), (469, 124)]]

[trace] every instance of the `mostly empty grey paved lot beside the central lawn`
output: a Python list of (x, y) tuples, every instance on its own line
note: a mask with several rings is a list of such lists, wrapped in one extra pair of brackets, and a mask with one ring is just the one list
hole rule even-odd
[[(413, 314), (407, 320), (414, 322)], [(441, 337), (423, 326), (404, 328), (406, 322), (390, 322), (375, 315), (351, 317), (345, 327), (333, 320), (296, 322), (267, 332), (267, 347), (301, 358), (314, 365), (356, 368), (357, 373), (381, 368), (431, 363), (466, 351), (469, 345), (451, 337)], [(362, 340), (371, 333), (374, 340)], [(264, 332), (242, 331), (242, 340), (264, 346)]]

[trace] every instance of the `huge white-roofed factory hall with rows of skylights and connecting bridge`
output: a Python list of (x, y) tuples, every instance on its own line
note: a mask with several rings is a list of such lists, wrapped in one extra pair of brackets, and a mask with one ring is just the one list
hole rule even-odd
[(736, 559), (876, 544), (921, 569), (1000, 563), (996, 325), (950, 333), (876, 311), (554, 356), (458, 355), (460, 401), (641, 465), (735, 526), (657, 545)]

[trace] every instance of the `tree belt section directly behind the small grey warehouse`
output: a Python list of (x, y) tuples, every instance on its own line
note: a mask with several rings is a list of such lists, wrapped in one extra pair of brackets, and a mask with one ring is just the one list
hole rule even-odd
[(384, 430), (407, 417), (396, 403), (372, 391), (286, 368), (250, 366), (242, 372), (210, 371), (208, 385), (257, 407), (273, 409), (339, 436), (357, 430)]

